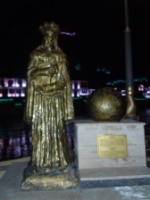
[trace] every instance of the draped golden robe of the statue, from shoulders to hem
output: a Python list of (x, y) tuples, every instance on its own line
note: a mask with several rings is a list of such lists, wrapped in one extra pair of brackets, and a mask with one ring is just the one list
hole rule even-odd
[(25, 120), (32, 126), (32, 166), (65, 168), (74, 160), (66, 133), (74, 119), (67, 58), (62, 50), (30, 54), (27, 73)]

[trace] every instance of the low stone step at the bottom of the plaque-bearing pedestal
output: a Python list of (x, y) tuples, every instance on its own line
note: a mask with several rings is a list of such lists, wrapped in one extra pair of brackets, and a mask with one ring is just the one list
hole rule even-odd
[(79, 171), (81, 188), (150, 185), (147, 167), (83, 169)]

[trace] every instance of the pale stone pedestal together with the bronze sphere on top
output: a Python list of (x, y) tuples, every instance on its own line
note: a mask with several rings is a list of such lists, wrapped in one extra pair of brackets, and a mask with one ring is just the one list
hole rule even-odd
[(75, 151), (81, 188), (150, 184), (144, 123), (123, 118), (124, 102), (105, 87), (88, 102), (92, 119), (75, 121)]

